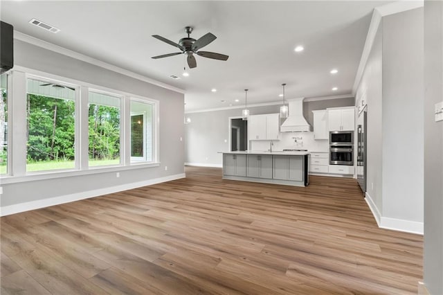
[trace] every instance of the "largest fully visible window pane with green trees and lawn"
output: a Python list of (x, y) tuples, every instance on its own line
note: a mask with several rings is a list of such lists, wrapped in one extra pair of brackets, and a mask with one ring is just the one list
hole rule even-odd
[(27, 79), (26, 172), (75, 168), (75, 89)]

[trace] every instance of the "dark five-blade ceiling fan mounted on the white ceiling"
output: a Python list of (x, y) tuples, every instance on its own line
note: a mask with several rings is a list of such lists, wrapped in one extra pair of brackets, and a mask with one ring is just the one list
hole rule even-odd
[(169, 57), (169, 56), (179, 55), (179, 54), (184, 53), (187, 56), (186, 60), (188, 60), (188, 66), (190, 67), (190, 69), (195, 68), (197, 66), (197, 60), (195, 60), (194, 54), (197, 54), (197, 55), (200, 55), (203, 57), (212, 58), (213, 60), (228, 60), (228, 57), (229, 57), (228, 55), (210, 52), (210, 51), (199, 51), (204, 46), (210, 44), (210, 42), (213, 42), (217, 38), (217, 37), (215, 37), (215, 35), (213, 35), (211, 33), (207, 33), (203, 37), (200, 37), (199, 39), (196, 40), (196, 39), (193, 39), (189, 36), (190, 33), (192, 33), (192, 27), (187, 26), (185, 28), (185, 32), (188, 34), (188, 37), (181, 38), (179, 40), (178, 44), (175, 42), (172, 42), (171, 40), (166, 39), (165, 37), (161, 37), (159, 35), (152, 35), (152, 37), (159, 39), (160, 41), (163, 41), (165, 43), (168, 43), (174, 47), (177, 47), (181, 50), (181, 52), (157, 55), (152, 58), (154, 58), (154, 60), (156, 60), (158, 58)]

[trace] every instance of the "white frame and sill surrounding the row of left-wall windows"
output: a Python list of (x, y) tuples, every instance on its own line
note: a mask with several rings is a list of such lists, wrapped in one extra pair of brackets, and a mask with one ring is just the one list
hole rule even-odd
[[(15, 66), (9, 73), (8, 78), (8, 149), (11, 146), (20, 146), (18, 149), (8, 150), (8, 175), (0, 175), (3, 184), (14, 184), (26, 181), (37, 181), (44, 179), (57, 179), (61, 177), (73, 177), (80, 175), (93, 175), (105, 172), (116, 172), (124, 170), (134, 170), (141, 168), (155, 168), (160, 166), (159, 161), (159, 109), (160, 102), (147, 96), (140, 96), (127, 91), (102, 87), (98, 84), (91, 84), (81, 80), (62, 77), (44, 71), (29, 69), (24, 66)], [(62, 170), (42, 170), (36, 172), (26, 172), (26, 96), (27, 78), (53, 82), (69, 87), (75, 87), (75, 168)], [(104, 91), (112, 96), (120, 96), (120, 165), (119, 166), (93, 166), (89, 167), (89, 134), (88, 134), (88, 114), (84, 112), (88, 109), (89, 91)], [(15, 96), (24, 96), (24, 98)], [(14, 99), (12, 99), (14, 97)], [(153, 105), (153, 155), (152, 161), (141, 163), (130, 162), (130, 100), (141, 100)], [(24, 102), (21, 100), (25, 100)], [(85, 124), (86, 123), (86, 124)], [(129, 132), (128, 132), (129, 131)], [(17, 133), (17, 134), (16, 134)], [(23, 161), (24, 160), (24, 161)]]

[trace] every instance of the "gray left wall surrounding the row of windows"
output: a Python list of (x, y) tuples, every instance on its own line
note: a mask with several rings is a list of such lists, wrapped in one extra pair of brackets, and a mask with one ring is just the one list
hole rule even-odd
[[(183, 137), (184, 134), (184, 95), (182, 93), (157, 87), (154, 84), (130, 78), (19, 40), (15, 40), (15, 64), (159, 100), (161, 166), (122, 170), (120, 178), (116, 178), (116, 172), (103, 172), (94, 175), (3, 184), (1, 206), (80, 194), (88, 190), (127, 185), (184, 173), (184, 144), (180, 141), (180, 137)], [(26, 98), (13, 97), (12, 99)], [(165, 171), (164, 166), (168, 166), (168, 171)]]

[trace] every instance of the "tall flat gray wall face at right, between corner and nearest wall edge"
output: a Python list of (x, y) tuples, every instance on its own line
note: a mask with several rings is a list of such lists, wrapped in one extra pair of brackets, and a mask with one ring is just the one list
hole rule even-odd
[(423, 55), (423, 8), (383, 17), (383, 217), (415, 222), (424, 202)]

